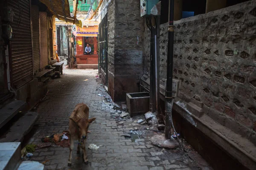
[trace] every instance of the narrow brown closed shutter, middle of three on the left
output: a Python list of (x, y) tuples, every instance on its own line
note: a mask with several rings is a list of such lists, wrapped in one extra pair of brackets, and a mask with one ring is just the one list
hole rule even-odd
[(32, 6), (32, 30), (33, 30), (33, 57), (34, 57), (34, 72), (37, 74), (40, 71), (40, 46), (39, 46), (39, 10), (38, 6)]

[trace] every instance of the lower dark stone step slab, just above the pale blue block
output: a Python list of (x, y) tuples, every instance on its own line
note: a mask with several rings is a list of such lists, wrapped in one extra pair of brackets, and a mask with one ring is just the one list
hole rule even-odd
[(38, 113), (23, 113), (13, 125), (7, 130), (7, 133), (1, 136), (0, 142), (22, 142), (24, 136), (32, 129), (35, 121), (38, 119)]

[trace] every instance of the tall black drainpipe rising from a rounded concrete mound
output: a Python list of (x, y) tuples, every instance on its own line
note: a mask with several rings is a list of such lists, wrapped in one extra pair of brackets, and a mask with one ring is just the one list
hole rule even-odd
[(171, 127), (172, 127), (172, 68), (173, 68), (173, 41), (174, 41), (174, 0), (169, 0), (169, 28), (168, 28), (168, 57), (167, 57), (167, 80), (166, 80), (166, 128), (165, 137), (171, 139)]

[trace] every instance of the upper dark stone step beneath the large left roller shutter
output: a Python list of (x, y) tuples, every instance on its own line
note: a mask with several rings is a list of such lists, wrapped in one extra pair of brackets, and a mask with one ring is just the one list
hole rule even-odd
[(26, 108), (26, 102), (15, 100), (0, 109), (0, 128), (8, 123), (19, 111)]

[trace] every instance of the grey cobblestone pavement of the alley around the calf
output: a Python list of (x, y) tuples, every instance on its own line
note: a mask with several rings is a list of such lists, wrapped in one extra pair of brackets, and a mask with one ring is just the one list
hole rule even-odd
[[(99, 79), (97, 70), (68, 70), (60, 79), (48, 82), (49, 93), (38, 106), (38, 129), (30, 139), (35, 144), (41, 138), (53, 133), (68, 130), (69, 116), (75, 105), (84, 102), (90, 108), (89, 117), (96, 121), (89, 127), (87, 147), (89, 144), (101, 144), (98, 150), (87, 149), (89, 164), (82, 163), (82, 156), (73, 151), (72, 166), (67, 167), (69, 148), (52, 145), (36, 150), (31, 160), (44, 162), (46, 170), (199, 170), (195, 161), (184, 159), (182, 154), (173, 150), (154, 147), (145, 139), (132, 142), (125, 139), (123, 127), (118, 126), (111, 118), (112, 107), (103, 102), (106, 94)], [(88, 79), (88, 80), (86, 80)], [(84, 81), (86, 80), (86, 81)], [(97, 88), (102, 89), (100, 91)], [(177, 150), (176, 150), (177, 151)], [(207, 170), (207, 167), (202, 168)]]

